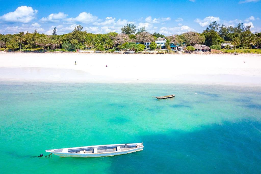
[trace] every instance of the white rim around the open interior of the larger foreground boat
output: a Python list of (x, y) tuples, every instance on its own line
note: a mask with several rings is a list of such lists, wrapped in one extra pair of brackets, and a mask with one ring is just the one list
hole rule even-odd
[[(116, 146), (116, 145), (126, 145), (126, 144), (113, 144), (113, 145), (110, 145), (110, 146)], [(140, 149), (140, 148), (143, 148), (143, 144), (142, 143), (131, 143), (131, 144), (127, 144), (127, 145), (141, 145), (141, 147), (134, 147), (133, 149)], [(108, 146), (108, 145), (99, 145), (99, 146), (83, 146), (83, 147), (74, 147), (74, 149), (77, 149), (77, 148), (86, 148), (86, 147), (102, 147), (102, 146)], [(67, 149), (67, 152), (55, 152), (52, 150), (55, 150), (55, 149), (49, 149), (49, 150), (45, 150), (45, 152), (51, 152), (53, 154), (56, 154), (56, 153), (67, 153), (67, 154), (77, 154), (75, 152), (68, 152), (68, 149), (72, 149), (72, 148), (62, 148), (62, 149)], [(125, 151), (130, 151), (132, 149), (127, 149), (127, 150), (124, 150), (124, 151), (112, 151), (112, 152), (100, 152), (100, 153), (79, 153), (79, 154), (106, 154), (106, 153), (119, 153), (119, 152), (125, 152)]]

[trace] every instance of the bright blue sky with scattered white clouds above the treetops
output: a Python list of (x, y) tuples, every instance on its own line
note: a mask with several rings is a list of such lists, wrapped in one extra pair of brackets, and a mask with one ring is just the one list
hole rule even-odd
[(182, 0), (182, 1), (9, 1), (0, 0), (0, 33), (20, 31), (51, 34), (69, 33), (81, 24), (87, 32), (120, 32), (132, 22), (150, 33), (164, 35), (187, 31), (202, 32), (217, 20), (227, 26), (239, 22), (261, 32), (261, 0)]

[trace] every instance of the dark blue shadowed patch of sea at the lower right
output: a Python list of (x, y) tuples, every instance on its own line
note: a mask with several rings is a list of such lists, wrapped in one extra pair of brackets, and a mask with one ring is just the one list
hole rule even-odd
[(143, 136), (144, 150), (110, 158), (109, 173), (260, 173), (260, 130), (242, 121)]

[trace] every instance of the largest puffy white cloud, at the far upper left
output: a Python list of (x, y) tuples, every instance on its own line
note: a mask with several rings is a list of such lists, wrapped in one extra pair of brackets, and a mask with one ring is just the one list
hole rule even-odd
[(35, 18), (37, 10), (32, 7), (20, 6), (14, 12), (9, 12), (0, 17), (0, 20), (5, 22), (22, 22), (28, 23)]

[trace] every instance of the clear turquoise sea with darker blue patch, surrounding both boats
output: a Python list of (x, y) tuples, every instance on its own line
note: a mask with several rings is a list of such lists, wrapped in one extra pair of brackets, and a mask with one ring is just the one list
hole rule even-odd
[[(167, 94), (176, 97), (153, 98)], [(233, 86), (1, 82), (0, 171), (260, 173), (260, 97)], [(136, 142), (143, 151), (115, 157), (35, 157)]]

